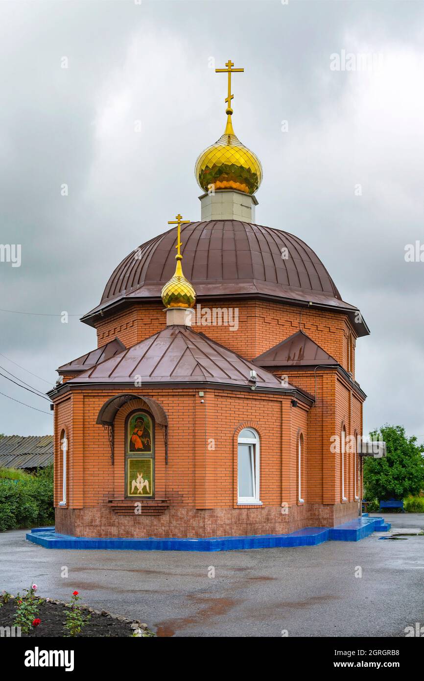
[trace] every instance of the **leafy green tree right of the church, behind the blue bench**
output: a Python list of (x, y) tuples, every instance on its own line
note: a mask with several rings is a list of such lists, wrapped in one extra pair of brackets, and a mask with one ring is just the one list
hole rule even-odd
[(417, 445), (416, 437), (406, 437), (404, 426), (385, 424), (370, 433), (387, 443), (387, 456), (382, 459), (365, 458), (363, 483), (366, 498), (403, 499), (408, 494), (419, 494), (424, 488), (424, 445)]

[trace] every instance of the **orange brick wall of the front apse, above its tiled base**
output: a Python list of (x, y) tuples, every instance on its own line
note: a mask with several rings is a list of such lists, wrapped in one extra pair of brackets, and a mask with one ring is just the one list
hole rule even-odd
[[(140, 388), (129, 392), (140, 393)], [(168, 466), (165, 466), (163, 434), (159, 426), (155, 430), (157, 496), (199, 508), (237, 506), (237, 434), (248, 424), (259, 432), (261, 440), (261, 501), (267, 505), (281, 504), (282, 477), (296, 476), (295, 440), (298, 428), (302, 428), (305, 441), (308, 437), (307, 410), (304, 407), (291, 407), (289, 397), (259, 393), (207, 390), (200, 398), (197, 390), (193, 389), (164, 389), (160, 394), (151, 390), (142, 392), (146, 397), (158, 400), (169, 419)], [(69, 414), (70, 398), (58, 402), (55, 408), (57, 432), (63, 427), (69, 430), (69, 462), (72, 468), (69, 507), (94, 507), (107, 498), (125, 494), (125, 417), (133, 409), (148, 411), (148, 407), (141, 400), (134, 400), (118, 411), (112, 466), (108, 432), (95, 422), (101, 406), (114, 394), (116, 392), (110, 390), (74, 390), (72, 416)], [(286, 418), (291, 422), (288, 429), (291, 437), (284, 447), (283, 405)], [(77, 437), (77, 428), (80, 437)], [(58, 453), (58, 484), (61, 481), (60, 458)], [(284, 501), (295, 503), (296, 498), (289, 496), (289, 489), (289, 486), (285, 488)]]

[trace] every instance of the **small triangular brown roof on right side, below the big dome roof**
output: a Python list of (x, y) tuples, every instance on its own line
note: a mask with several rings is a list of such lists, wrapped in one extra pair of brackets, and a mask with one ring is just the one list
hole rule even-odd
[(337, 366), (339, 362), (303, 331), (297, 331), (254, 360), (258, 366)]

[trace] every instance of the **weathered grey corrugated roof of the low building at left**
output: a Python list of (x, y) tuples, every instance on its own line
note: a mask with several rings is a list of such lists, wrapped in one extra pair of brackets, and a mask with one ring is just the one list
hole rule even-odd
[(0, 466), (16, 469), (53, 463), (52, 435), (4, 435), (0, 437)]

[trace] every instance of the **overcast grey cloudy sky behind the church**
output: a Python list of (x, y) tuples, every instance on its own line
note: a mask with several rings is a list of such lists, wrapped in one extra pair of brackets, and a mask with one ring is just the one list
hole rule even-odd
[[(332, 70), (343, 51), (353, 69)], [(120, 260), (177, 210), (199, 219), (195, 160), (225, 124), (211, 57), (245, 69), (233, 124), (263, 165), (257, 222), (310, 244), (370, 326), (364, 432), (404, 424), (423, 442), (424, 262), (404, 258), (424, 244), (421, 0), (2, 0), (0, 242), (22, 263), (0, 263), (0, 307), (33, 315), (0, 312), (0, 366), (48, 390), (96, 347), (78, 317)], [(50, 413), (0, 407), (0, 432), (52, 432)]]

